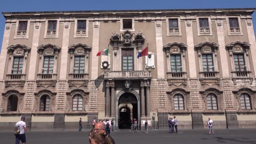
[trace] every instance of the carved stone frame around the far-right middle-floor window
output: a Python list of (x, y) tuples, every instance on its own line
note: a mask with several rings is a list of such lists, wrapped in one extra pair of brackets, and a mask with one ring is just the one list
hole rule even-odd
[(231, 62), (232, 72), (236, 72), (233, 54), (243, 54), (245, 59), (246, 71), (251, 72), (251, 67), (249, 63), (250, 46), (251, 45), (249, 43), (241, 41), (235, 41), (226, 45), (226, 48), (229, 51), (229, 59)]

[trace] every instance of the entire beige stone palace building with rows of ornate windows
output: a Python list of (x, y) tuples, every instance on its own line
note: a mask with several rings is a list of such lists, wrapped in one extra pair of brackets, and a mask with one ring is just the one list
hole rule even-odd
[(80, 117), (256, 128), (254, 11), (4, 12), (0, 129), (21, 116), (30, 131), (77, 130)]

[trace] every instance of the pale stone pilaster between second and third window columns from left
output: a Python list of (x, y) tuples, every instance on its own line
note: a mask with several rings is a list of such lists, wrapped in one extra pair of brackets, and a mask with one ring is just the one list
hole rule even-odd
[(69, 21), (64, 21), (62, 48), (61, 48), (61, 68), (60, 68), (60, 77), (59, 77), (60, 80), (67, 79), (69, 31), (70, 31), (70, 23), (69, 23)]

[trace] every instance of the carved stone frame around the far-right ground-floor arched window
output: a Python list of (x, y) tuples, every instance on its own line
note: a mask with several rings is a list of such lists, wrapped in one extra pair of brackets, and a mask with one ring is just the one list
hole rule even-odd
[[(236, 97), (237, 102), (238, 102), (238, 111), (241, 111), (241, 112), (254, 111), (255, 112), (255, 110), (256, 110), (256, 106), (255, 106), (256, 91), (253, 91), (251, 88), (240, 88), (237, 91), (233, 91), (233, 93), (235, 94), (235, 97)], [(251, 109), (242, 109), (240, 96), (243, 93), (248, 94), (248, 96), (250, 97)]]

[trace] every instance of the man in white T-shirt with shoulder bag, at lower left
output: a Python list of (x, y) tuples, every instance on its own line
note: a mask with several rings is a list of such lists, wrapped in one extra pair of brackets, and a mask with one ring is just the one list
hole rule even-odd
[(15, 144), (19, 144), (19, 141), (22, 142), (22, 144), (26, 144), (26, 136), (25, 136), (25, 131), (27, 131), (27, 125), (24, 122), (25, 117), (21, 117), (21, 121), (17, 122), (15, 125)]

